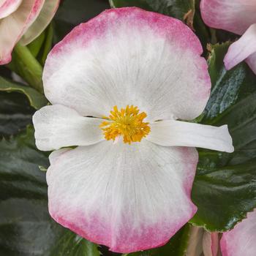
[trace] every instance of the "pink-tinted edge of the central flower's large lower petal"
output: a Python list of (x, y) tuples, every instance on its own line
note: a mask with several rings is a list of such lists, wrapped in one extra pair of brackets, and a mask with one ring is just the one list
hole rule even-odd
[[(188, 161), (189, 159), (190, 165), (196, 167), (197, 158), (195, 159), (193, 154), (191, 154), (191, 148), (189, 149), (184, 147), (181, 148), (181, 151), (184, 154), (184, 159), (186, 159), (186, 161)], [(62, 159), (64, 159), (65, 154), (67, 154), (67, 152), (68, 151), (62, 151), (61, 149), (60, 153), (56, 154), (57, 159), (54, 159), (54, 161), (52, 160), (52, 165), (58, 165), (58, 163), (62, 161)], [(52, 175), (52, 172), (53, 170), (50, 170), (50, 173), (48, 173), (48, 178), (49, 176)], [(190, 170), (189, 173), (191, 173)], [(187, 180), (184, 182), (184, 187), (186, 188), (186, 193), (188, 197), (191, 197), (193, 180), (194, 175), (190, 175), (189, 178), (187, 178)], [(174, 236), (175, 233), (178, 230), (180, 230), (181, 227), (183, 227), (189, 221), (189, 219), (191, 219), (195, 215), (197, 211), (197, 206), (195, 206), (191, 202), (191, 213), (189, 214), (189, 217), (187, 217), (186, 219), (183, 219), (181, 222), (173, 223), (171, 227), (167, 227), (167, 225), (169, 225), (167, 222), (157, 223), (156, 225), (152, 225), (151, 227), (142, 226), (140, 228), (140, 231), (143, 230), (141, 232), (143, 236), (138, 235), (138, 237), (132, 237), (130, 238), (130, 240), (127, 240), (127, 230), (130, 230), (130, 225), (129, 223), (124, 223), (124, 227), (122, 227), (122, 232), (118, 236), (118, 243), (113, 245), (111, 244), (111, 230), (113, 223), (110, 222), (108, 227), (106, 228), (106, 223), (102, 222), (102, 219), (98, 217), (97, 212), (95, 212), (94, 214), (93, 221), (88, 222), (86, 221), (84, 214), (80, 212), (78, 208), (74, 210), (72, 209), (72, 211), (70, 212), (66, 212), (65, 217), (67, 218), (58, 216), (58, 213), (54, 211), (54, 205), (51, 205), (50, 200), (48, 203), (48, 208), (50, 216), (60, 225), (69, 228), (69, 230), (72, 230), (79, 236), (86, 238), (87, 240), (94, 242), (95, 244), (102, 244), (108, 246), (110, 247), (110, 251), (118, 253), (137, 252), (165, 245), (170, 240), (170, 238)], [(72, 222), (72, 220), (70, 221), (68, 219), (70, 216), (72, 216), (73, 219), (75, 219), (75, 222)], [(129, 219), (129, 217), (127, 217), (126, 219)], [(125, 225), (127, 225), (127, 227)], [(165, 229), (163, 229), (163, 227), (165, 227)], [(159, 230), (159, 233), (157, 233), (157, 236), (154, 236), (154, 234), (156, 234), (156, 230)], [(160, 230), (162, 230), (162, 233)]]

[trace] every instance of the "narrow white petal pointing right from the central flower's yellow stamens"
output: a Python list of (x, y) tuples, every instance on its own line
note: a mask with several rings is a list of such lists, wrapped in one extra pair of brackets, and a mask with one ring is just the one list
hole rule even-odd
[(227, 125), (212, 127), (211, 125), (166, 120), (154, 122), (150, 127), (151, 132), (146, 140), (161, 146), (189, 146), (226, 152), (234, 151)]

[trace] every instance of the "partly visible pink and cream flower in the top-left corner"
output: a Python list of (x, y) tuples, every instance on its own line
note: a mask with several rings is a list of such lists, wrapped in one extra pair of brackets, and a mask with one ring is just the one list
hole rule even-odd
[(20, 40), (29, 44), (48, 26), (59, 0), (0, 0), (0, 64), (12, 59), (12, 49)]

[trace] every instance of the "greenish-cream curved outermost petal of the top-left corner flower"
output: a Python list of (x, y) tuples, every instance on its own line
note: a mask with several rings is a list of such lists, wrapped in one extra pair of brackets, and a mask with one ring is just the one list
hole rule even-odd
[(43, 5), (37, 19), (20, 39), (20, 43), (22, 45), (28, 45), (29, 42), (32, 42), (39, 36), (39, 34), (42, 33), (42, 31), (45, 30), (59, 7), (59, 1), (60, 0), (45, 0), (45, 4)]

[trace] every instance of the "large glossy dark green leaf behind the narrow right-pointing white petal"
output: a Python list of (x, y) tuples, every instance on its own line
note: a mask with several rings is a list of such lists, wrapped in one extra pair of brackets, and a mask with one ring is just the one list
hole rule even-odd
[(214, 45), (208, 59), (213, 87), (202, 123), (227, 124), (235, 152), (200, 150), (192, 189), (191, 222), (211, 231), (229, 230), (256, 207), (256, 76), (244, 63), (225, 70), (228, 46)]

